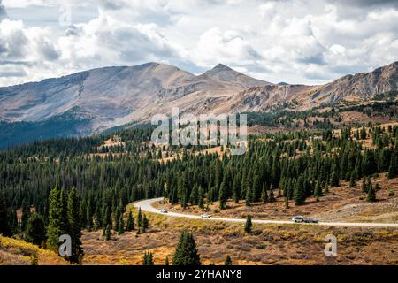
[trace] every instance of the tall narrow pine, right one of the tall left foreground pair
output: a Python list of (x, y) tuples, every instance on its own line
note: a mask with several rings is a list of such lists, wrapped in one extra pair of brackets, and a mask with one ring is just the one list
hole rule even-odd
[(74, 264), (81, 264), (84, 256), (83, 248), (81, 248), (81, 224), (80, 224), (80, 213), (79, 213), (79, 200), (77, 198), (76, 188), (72, 188), (68, 195), (67, 202), (67, 218), (68, 227), (70, 228), (69, 235), (72, 239), (72, 256), (69, 261)]

